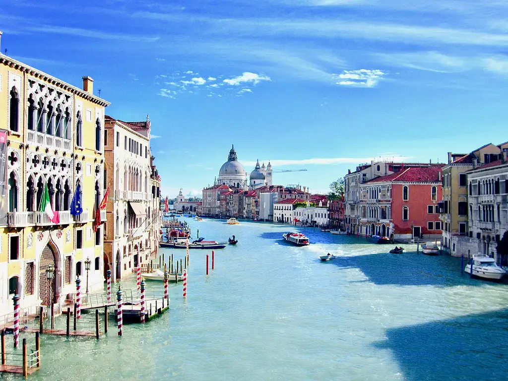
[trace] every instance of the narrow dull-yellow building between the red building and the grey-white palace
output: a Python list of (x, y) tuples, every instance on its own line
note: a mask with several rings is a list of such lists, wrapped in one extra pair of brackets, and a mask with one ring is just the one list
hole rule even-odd
[(468, 154), (448, 152), (448, 165), (442, 169), (443, 200), (440, 219), (443, 226), (442, 245), (452, 255), (460, 256), (463, 253), (459, 250), (459, 241), (466, 246), (468, 244), (466, 171), (498, 160), (501, 151), (507, 147), (507, 143), (498, 146), (489, 143)]

